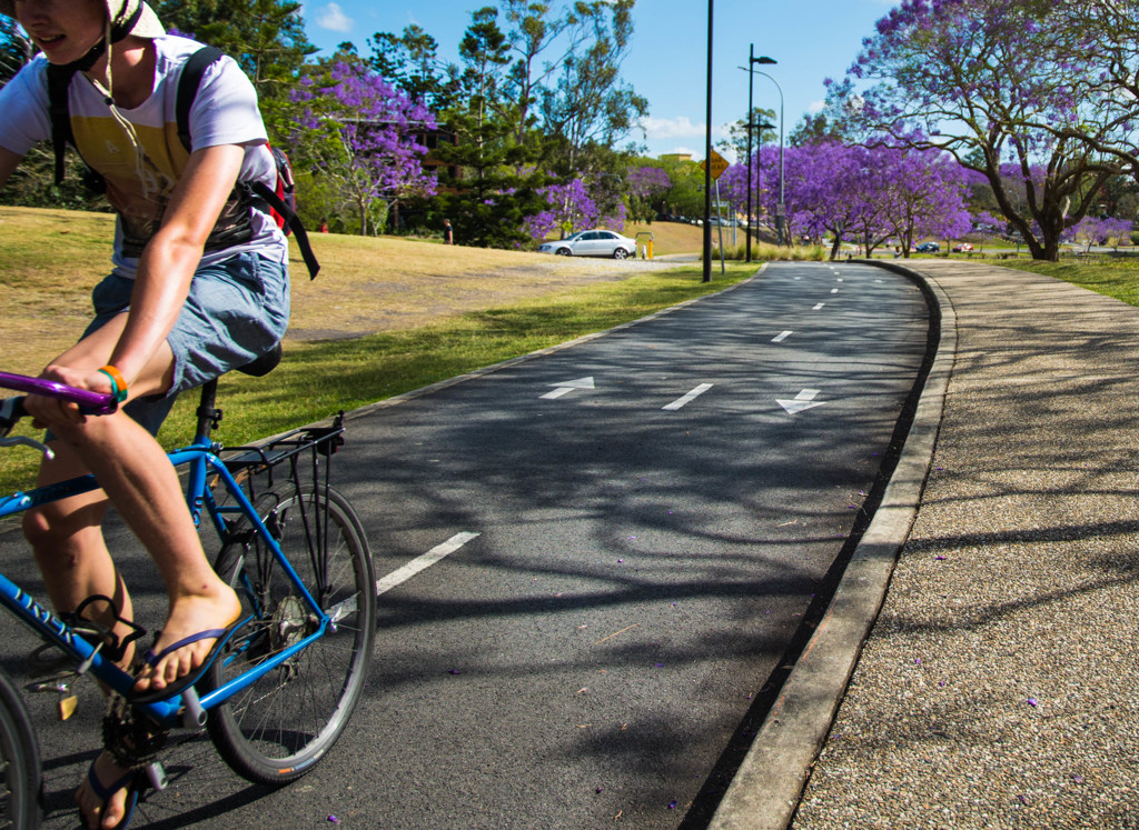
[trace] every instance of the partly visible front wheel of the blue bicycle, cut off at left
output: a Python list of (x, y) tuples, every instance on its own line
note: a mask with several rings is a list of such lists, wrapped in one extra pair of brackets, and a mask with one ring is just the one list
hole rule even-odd
[(0, 671), (0, 827), (40, 827), (40, 745), (11, 679)]

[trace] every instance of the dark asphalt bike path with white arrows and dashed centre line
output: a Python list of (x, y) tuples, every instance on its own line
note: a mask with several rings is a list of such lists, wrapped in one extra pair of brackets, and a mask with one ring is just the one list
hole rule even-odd
[[(383, 593), (350, 729), (271, 795), (190, 741), (139, 825), (698, 821), (859, 519), (927, 327), (904, 278), (780, 264), (354, 413), (338, 486), (366, 517)], [(38, 590), (18, 533), (0, 554)], [(145, 568), (130, 576), (144, 608), (161, 597)], [(0, 659), (19, 674), (28, 648), (17, 638)], [(71, 825), (101, 706), (89, 690), (74, 726), (50, 725), (44, 697), (31, 702), (48, 825)]]

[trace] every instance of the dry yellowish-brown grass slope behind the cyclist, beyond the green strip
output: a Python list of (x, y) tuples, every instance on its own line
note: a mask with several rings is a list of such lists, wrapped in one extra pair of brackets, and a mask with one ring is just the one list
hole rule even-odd
[[(110, 269), (114, 225), (109, 214), (0, 206), (5, 370), (38, 373), (75, 342), (91, 288)], [(650, 266), (395, 238), (311, 239), (321, 263), (314, 281), (295, 245), (292, 252), (292, 342), (418, 328)]]

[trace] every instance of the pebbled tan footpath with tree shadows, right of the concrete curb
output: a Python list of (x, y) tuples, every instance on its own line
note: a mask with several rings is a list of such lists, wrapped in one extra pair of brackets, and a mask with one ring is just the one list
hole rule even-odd
[(957, 314), (944, 420), (792, 827), (1139, 828), (1139, 310), (915, 268)]

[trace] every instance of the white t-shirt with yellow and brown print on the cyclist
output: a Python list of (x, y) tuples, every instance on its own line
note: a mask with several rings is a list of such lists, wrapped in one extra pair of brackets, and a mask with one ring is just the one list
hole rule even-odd
[[(134, 109), (118, 112), (129, 121), (138, 147), (113, 117), (104, 94), (76, 72), (68, 88), (72, 132), (83, 159), (107, 182), (107, 199), (118, 214), (115, 229), (115, 272), (133, 278), (142, 247), (162, 223), (162, 216), (189, 153), (178, 138), (178, 80), (187, 58), (202, 48), (186, 38), (165, 35), (154, 41), (154, 92)], [(48, 113), (48, 61), (41, 55), (0, 89), (0, 146), (24, 155), (39, 141), (51, 139)], [(113, 80), (113, 79), (112, 79)], [(245, 147), (238, 181), (261, 180), (270, 188), (277, 167), (269, 150), (257, 96), (249, 79), (229, 57), (206, 69), (190, 107), (191, 149), (218, 145)], [(248, 229), (245, 224), (248, 222)], [(215, 235), (224, 247), (207, 244), (203, 264), (240, 252), (256, 252), (287, 262), (288, 243), (276, 222), (262, 211), (231, 200), (219, 217)]]

